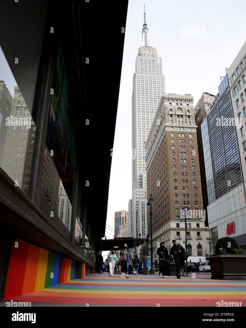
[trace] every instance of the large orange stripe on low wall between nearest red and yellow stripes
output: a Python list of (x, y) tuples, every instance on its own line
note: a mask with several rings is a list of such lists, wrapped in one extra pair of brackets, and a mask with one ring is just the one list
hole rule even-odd
[(29, 244), (22, 294), (35, 290), (40, 248)]

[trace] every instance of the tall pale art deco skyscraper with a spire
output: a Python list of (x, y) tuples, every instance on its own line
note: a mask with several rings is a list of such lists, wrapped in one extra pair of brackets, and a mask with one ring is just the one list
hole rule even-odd
[(142, 47), (138, 49), (132, 91), (132, 228), (134, 237), (147, 234), (145, 140), (161, 95), (165, 93), (162, 59), (150, 46), (144, 13)]

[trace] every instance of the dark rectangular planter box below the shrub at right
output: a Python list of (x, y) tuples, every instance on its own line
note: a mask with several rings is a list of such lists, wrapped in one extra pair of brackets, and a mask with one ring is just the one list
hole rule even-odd
[(209, 256), (211, 279), (244, 280), (246, 279), (246, 255)]

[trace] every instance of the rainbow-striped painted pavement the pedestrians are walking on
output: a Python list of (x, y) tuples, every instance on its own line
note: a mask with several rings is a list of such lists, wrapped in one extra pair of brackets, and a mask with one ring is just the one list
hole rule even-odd
[[(15, 301), (91, 305), (183, 305), (216, 306), (233, 301), (246, 305), (246, 281), (211, 280), (210, 276), (190, 277), (129, 276), (92, 274), (16, 298)], [(64, 304), (65, 306), (65, 304)]]

